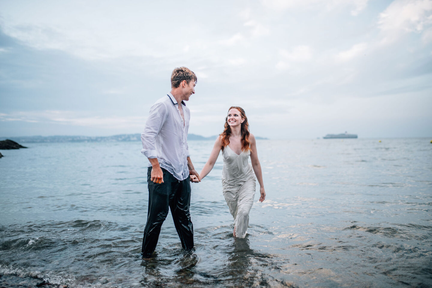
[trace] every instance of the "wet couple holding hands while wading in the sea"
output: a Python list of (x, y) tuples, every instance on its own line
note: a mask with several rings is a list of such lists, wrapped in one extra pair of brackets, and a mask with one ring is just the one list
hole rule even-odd
[[(256, 179), (260, 184), (260, 201), (263, 202), (266, 196), (255, 137), (249, 133), (248, 118), (240, 107), (229, 108), (224, 130), (216, 139), (209, 160), (200, 174), (195, 171), (187, 146), (190, 111), (184, 101), (195, 93), (196, 84), (194, 72), (186, 67), (175, 68), (171, 75), (171, 92), (152, 105), (141, 133), (141, 153), (150, 162), (147, 171), (149, 205), (141, 250), (143, 258), (150, 258), (155, 251), (168, 209), (171, 209), (181, 246), (184, 249), (194, 247), (194, 228), (189, 213), (190, 182), (200, 182), (209, 174), (221, 150), (222, 193), (234, 218), (234, 237), (244, 238), (246, 235)], [(248, 163), (249, 157), (252, 166)]]

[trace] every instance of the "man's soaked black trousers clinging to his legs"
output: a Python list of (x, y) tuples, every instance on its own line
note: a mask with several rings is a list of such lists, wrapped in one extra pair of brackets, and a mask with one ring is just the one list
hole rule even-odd
[(151, 172), (152, 167), (149, 167), (147, 171), (149, 210), (141, 250), (143, 257), (149, 258), (155, 251), (162, 223), (168, 215), (168, 208), (171, 210), (181, 247), (192, 249), (194, 247), (194, 227), (189, 214), (189, 207), (191, 206), (189, 178), (182, 181), (178, 180), (162, 168), (164, 183), (156, 184), (150, 180)]

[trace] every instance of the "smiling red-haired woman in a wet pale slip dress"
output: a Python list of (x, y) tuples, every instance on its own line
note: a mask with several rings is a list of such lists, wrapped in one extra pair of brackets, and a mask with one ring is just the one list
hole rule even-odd
[[(266, 198), (255, 137), (249, 133), (248, 118), (240, 107), (230, 107), (225, 129), (216, 139), (210, 158), (200, 173), (201, 180), (212, 170), (222, 150), (222, 192), (229, 212), (234, 217), (234, 237), (244, 238), (249, 223), (249, 211), (254, 203), (255, 175), (260, 184), (260, 201)], [(251, 156), (251, 165), (248, 163)], [(253, 169), (253, 171), (252, 171)], [(255, 174), (255, 175), (254, 175)], [(191, 181), (198, 182), (195, 175)]]

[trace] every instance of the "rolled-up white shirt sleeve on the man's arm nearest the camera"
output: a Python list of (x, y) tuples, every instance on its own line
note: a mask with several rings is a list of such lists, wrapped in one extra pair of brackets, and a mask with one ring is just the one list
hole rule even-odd
[(163, 102), (153, 104), (150, 108), (150, 114), (146, 121), (143, 133), (141, 133), (141, 142), (143, 142), (143, 153), (147, 158), (157, 158), (156, 136), (162, 129), (168, 111)]

